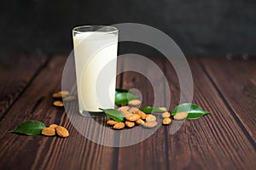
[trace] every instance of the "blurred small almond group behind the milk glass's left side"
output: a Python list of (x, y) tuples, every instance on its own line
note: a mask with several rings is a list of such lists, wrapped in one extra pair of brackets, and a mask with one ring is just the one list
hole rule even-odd
[(69, 102), (69, 101), (73, 101), (76, 99), (75, 96), (69, 95), (69, 92), (66, 90), (56, 92), (56, 93), (52, 94), (52, 97), (54, 99), (56, 99), (55, 102), (53, 103), (53, 105), (55, 105), (56, 107), (64, 106), (63, 101)]

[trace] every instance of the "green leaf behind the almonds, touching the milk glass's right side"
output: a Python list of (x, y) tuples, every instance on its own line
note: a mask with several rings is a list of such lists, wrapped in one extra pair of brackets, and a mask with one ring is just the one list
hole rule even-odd
[(127, 104), (131, 99), (137, 99), (138, 95), (129, 92), (115, 92), (114, 103), (116, 105)]

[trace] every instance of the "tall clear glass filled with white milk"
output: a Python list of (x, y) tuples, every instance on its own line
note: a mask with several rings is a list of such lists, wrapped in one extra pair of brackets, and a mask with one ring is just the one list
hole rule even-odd
[(79, 112), (104, 116), (114, 108), (118, 30), (113, 26), (73, 28)]

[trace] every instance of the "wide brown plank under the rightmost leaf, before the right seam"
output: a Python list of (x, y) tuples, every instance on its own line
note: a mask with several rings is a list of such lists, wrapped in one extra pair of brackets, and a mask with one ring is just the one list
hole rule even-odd
[[(166, 76), (169, 73), (166, 64)], [(193, 103), (201, 105), (211, 115), (186, 121), (177, 133), (170, 137), (169, 156), (172, 167), (177, 169), (253, 169), (255, 148), (230, 114), (224, 101), (218, 96), (207, 75), (196, 59), (189, 65), (194, 80)], [(173, 82), (172, 82), (173, 83)], [(177, 92), (177, 91), (174, 91)], [(174, 94), (176, 95), (176, 94)], [(183, 160), (183, 156), (186, 157)], [(183, 163), (177, 163), (183, 161)]]

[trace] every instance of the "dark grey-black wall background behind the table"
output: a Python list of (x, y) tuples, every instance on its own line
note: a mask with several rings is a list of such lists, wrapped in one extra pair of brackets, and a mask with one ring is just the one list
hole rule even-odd
[(255, 0), (9, 0), (0, 14), (2, 53), (69, 54), (74, 26), (134, 22), (166, 32), (187, 56), (256, 54)]

